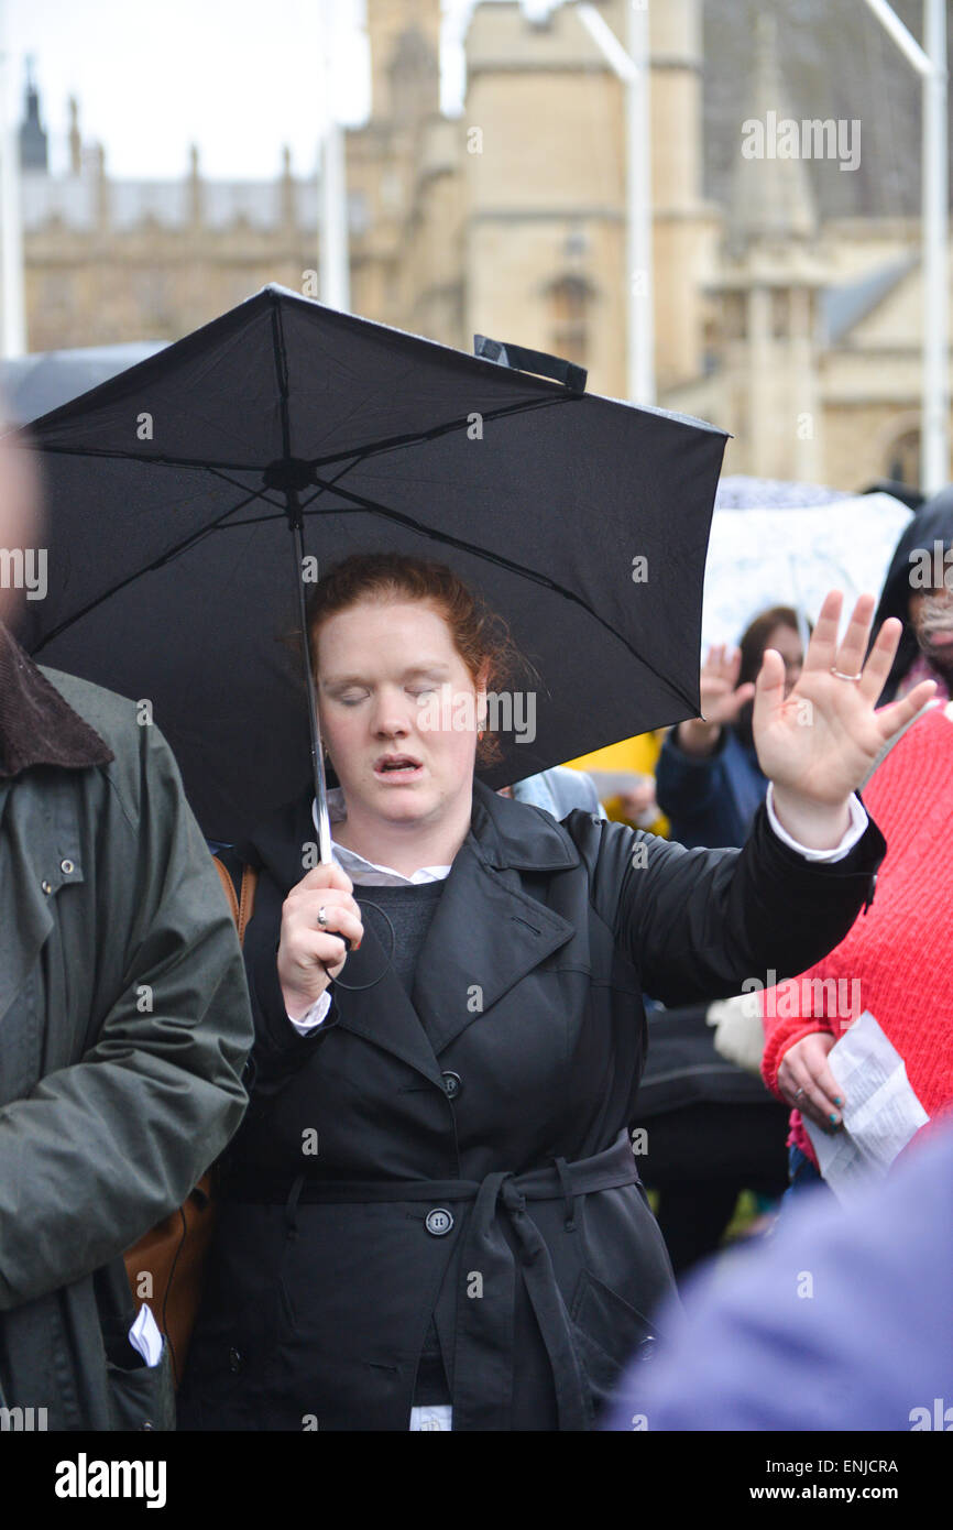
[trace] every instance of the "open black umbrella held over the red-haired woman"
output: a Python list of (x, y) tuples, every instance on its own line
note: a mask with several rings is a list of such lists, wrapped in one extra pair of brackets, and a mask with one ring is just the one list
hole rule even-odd
[(268, 286), (31, 427), (49, 594), (21, 641), (150, 704), (210, 838), (304, 788), (278, 640), (349, 552), (437, 557), (508, 620), (543, 684), (491, 786), (698, 716), (725, 435), (485, 347), (499, 361)]

